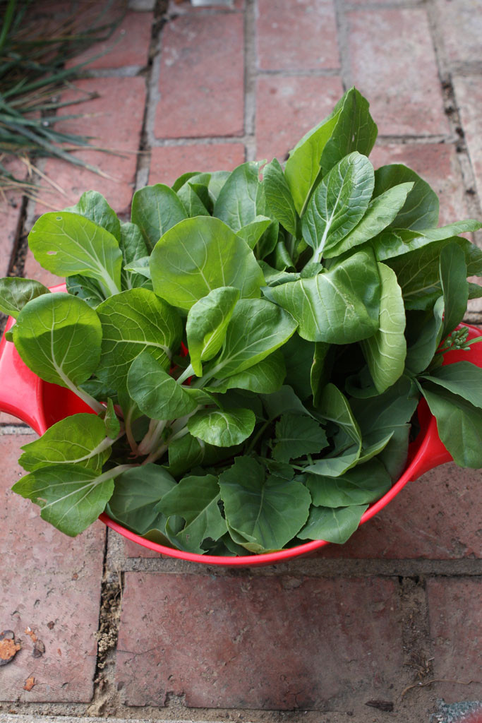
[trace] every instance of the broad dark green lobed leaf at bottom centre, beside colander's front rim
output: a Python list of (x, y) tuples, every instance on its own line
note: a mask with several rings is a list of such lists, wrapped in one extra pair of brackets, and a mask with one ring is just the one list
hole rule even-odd
[(304, 525), (311, 497), (301, 482), (265, 479), (262, 466), (236, 458), (219, 478), (228, 529), (234, 541), (251, 552), (281, 549)]

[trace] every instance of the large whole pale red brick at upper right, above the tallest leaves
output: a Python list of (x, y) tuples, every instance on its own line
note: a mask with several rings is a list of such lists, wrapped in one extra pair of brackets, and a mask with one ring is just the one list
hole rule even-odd
[(357, 11), (347, 19), (353, 80), (380, 134), (447, 133), (425, 10)]

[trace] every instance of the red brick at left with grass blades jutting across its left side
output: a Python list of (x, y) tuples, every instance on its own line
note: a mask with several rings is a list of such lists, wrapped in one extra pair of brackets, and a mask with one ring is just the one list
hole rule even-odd
[(43, 192), (35, 212), (40, 215), (48, 210), (60, 210), (79, 200), (84, 191), (93, 189), (102, 193), (112, 208), (120, 214), (130, 213), (134, 189), (142, 120), (145, 105), (145, 81), (135, 78), (88, 78), (76, 82), (78, 90), (67, 91), (64, 99), (79, 98), (83, 93), (98, 93), (99, 98), (86, 100), (79, 106), (67, 107), (66, 113), (82, 113), (85, 117), (64, 121), (56, 128), (65, 132), (89, 135), (92, 145), (116, 154), (100, 150), (75, 152), (77, 158), (98, 166), (108, 178), (73, 166), (66, 161), (49, 158), (46, 174), (64, 189), (64, 194)]

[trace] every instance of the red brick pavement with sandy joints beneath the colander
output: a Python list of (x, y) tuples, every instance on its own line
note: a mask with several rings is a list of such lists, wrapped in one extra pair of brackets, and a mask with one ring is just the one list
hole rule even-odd
[[(379, 124), (374, 163), (426, 176), (442, 223), (480, 217), (481, 0), (130, 5), (119, 42), (76, 84), (100, 97), (69, 124), (124, 155), (82, 151), (108, 178), (47, 161), (66, 197), (2, 205), (2, 273), (46, 208), (95, 188), (126, 216), (147, 182), (283, 160), (353, 82)], [(53, 281), (30, 255), (25, 273)], [(470, 320), (482, 322), (480, 302)], [(218, 570), (147, 552), (100, 523), (61, 538), (8, 491), (31, 437), (4, 414), (0, 425), (0, 628), (22, 641), (0, 667), (1, 723), (446, 723), (456, 709), (460, 722), (480, 711), (461, 703), (482, 699), (480, 473), (426, 474), (344, 547)]]

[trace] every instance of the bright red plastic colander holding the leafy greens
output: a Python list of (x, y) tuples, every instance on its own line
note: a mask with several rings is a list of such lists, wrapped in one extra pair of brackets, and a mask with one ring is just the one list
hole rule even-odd
[[(64, 284), (51, 288), (51, 291), (65, 291)], [(9, 318), (6, 330), (14, 325), (14, 319)], [(481, 335), (481, 330), (468, 326), (468, 338), (473, 339)], [(453, 364), (455, 361), (471, 361), (482, 367), (482, 344), (476, 344), (470, 351), (449, 351), (444, 355), (444, 364)], [(92, 409), (70, 390), (56, 384), (43, 382), (28, 369), (20, 359), (12, 343), (3, 337), (0, 342), (0, 411), (12, 414), (35, 429), (39, 435), (59, 422), (64, 417), (79, 412), (91, 412)], [(420, 432), (416, 440), (408, 449), (407, 467), (395, 484), (378, 502), (370, 505), (361, 518), (361, 524), (379, 513), (385, 505), (393, 500), (407, 482), (414, 482), (418, 477), (430, 469), (434, 469), (445, 462), (451, 462), (452, 456), (447, 452), (439, 438), (435, 417), (432, 416), (429, 406), (422, 399), (417, 408)], [(293, 557), (309, 555), (311, 552), (328, 544), (324, 540), (314, 540), (282, 549), (278, 552), (267, 552), (263, 555), (243, 555), (240, 557), (221, 557), (215, 555), (196, 555), (192, 552), (165, 547), (156, 542), (150, 542), (134, 534), (119, 523), (111, 520), (103, 513), (99, 518), (108, 527), (119, 532), (129, 540), (137, 542), (143, 547), (159, 552), (169, 557), (178, 557), (181, 560), (202, 562), (205, 565), (225, 565), (227, 567), (240, 567), (249, 565), (274, 565)]]

